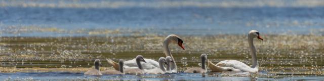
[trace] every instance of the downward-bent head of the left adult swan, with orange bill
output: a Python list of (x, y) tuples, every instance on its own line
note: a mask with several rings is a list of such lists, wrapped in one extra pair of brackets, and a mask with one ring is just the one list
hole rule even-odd
[(166, 37), (165, 41), (171, 41), (171, 43), (178, 44), (178, 46), (184, 50), (183, 41), (178, 35), (170, 34)]

